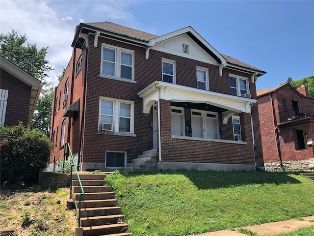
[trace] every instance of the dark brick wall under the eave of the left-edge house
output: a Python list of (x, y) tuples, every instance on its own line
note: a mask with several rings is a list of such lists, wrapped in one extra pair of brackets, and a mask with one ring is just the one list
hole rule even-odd
[(28, 122), (31, 87), (1, 69), (1, 89), (8, 89), (4, 125), (18, 125), (19, 120)]

